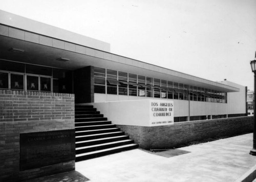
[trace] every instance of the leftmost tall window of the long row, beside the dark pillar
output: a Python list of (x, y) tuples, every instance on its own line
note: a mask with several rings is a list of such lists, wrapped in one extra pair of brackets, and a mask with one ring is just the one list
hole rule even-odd
[(94, 93), (105, 94), (105, 69), (94, 67)]

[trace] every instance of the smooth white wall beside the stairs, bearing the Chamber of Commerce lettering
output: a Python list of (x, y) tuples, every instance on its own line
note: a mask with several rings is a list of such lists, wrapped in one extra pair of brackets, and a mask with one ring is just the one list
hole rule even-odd
[[(153, 114), (156, 112), (152, 110), (152, 102), (158, 103), (158, 106), (154, 106), (154, 108), (166, 108), (166, 112), (171, 113), (171, 115), (154, 116)], [(168, 110), (171, 107), (161, 107), (159, 103), (169, 103), (172, 105), (172, 111)], [(78, 105), (93, 105), (114, 124), (133, 126), (161, 126), (174, 123), (173, 104), (173, 101), (167, 100), (131, 100)], [(157, 111), (157, 113), (160, 112), (161, 111)]]

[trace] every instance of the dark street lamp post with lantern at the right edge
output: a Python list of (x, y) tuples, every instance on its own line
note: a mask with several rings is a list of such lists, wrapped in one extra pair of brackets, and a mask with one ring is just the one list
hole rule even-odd
[(251, 71), (254, 73), (254, 90), (253, 90), (253, 148), (250, 150), (251, 155), (256, 155), (256, 104), (255, 104), (255, 92), (256, 92), (256, 51), (254, 60), (250, 61)]

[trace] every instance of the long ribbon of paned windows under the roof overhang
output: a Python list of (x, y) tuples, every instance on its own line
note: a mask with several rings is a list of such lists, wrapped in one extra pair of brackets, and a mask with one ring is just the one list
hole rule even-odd
[[(55, 85), (54, 82), (53, 85)], [(227, 98), (226, 93), (220, 93), (217, 90), (99, 67), (94, 68), (94, 92), (219, 103), (225, 103)]]

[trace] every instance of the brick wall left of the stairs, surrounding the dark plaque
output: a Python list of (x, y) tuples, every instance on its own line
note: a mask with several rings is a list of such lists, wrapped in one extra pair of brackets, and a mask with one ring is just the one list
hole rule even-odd
[(75, 161), (19, 171), (19, 134), (74, 129), (74, 95), (0, 90), (0, 181), (75, 169)]

